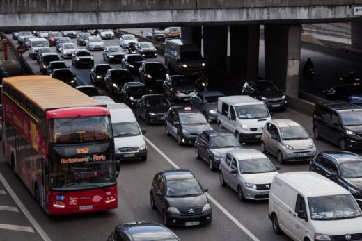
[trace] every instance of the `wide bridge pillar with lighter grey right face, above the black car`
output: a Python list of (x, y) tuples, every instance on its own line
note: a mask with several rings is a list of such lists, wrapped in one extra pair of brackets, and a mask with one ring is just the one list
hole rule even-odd
[(265, 25), (265, 77), (292, 97), (298, 97), (300, 25)]

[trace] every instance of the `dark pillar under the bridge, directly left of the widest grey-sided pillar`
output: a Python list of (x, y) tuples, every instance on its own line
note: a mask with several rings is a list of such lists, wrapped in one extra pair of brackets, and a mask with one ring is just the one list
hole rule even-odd
[(230, 26), (230, 72), (249, 81), (258, 79), (259, 25)]

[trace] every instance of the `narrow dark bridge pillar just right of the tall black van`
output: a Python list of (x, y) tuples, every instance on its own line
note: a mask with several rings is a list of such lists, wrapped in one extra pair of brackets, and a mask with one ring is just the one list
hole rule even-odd
[(205, 26), (203, 49), (207, 67), (226, 70), (228, 50), (228, 26)]

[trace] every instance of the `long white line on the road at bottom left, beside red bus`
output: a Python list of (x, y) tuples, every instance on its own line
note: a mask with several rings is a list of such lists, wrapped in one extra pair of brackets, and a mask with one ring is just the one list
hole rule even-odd
[(33, 227), (36, 228), (36, 231), (38, 231), (40, 237), (42, 238), (42, 240), (48, 241), (51, 240), (49, 238), (49, 236), (47, 235), (47, 233), (45, 233), (45, 231), (42, 229), (42, 227), (38, 224), (38, 222), (36, 222), (36, 219), (34, 219), (34, 217), (31, 215), (31, 213), (29, 213), (29, 211), (25, 208), (24, 204), (22, 203), (22, 201), (20, 201), (20, 199), (17, 197), (17, 194), (15, 194), (15, 192), (13, 191), (13, 189), (10, 187), (10, 185), (8, 184), (8, 182), (6, 181), (6, 179), (3, 177), (3, 174), (1, 174), (0, 172), (0, 181), (1, 183), (3, 183), (3, 186), (5, 187), (5, 189), (8, 191), (8, 193), (10, 194), (10, 196), (14, 199), (14, 201), (17, 203), (17, 206), (19, 206), (20, 210), (22, 210), (22, 212), (24, 213), (24, 215), (29, 219), (29, 221), (31, 222), (31, 224), (33, 224)]

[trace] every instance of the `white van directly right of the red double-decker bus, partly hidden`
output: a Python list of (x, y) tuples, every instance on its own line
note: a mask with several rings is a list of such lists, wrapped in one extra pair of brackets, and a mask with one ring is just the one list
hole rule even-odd
[(145, 130), (139, 128), (136, 117), (125, 103), (107, 104), (111, 113), (116, 160), (147, 160)]

